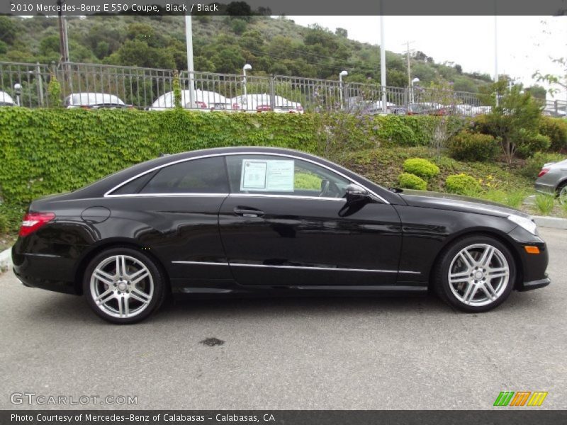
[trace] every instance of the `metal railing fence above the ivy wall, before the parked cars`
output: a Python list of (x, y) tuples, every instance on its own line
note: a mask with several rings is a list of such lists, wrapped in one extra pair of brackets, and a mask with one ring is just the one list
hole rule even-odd
[[(163, 110), (174, 107), (172, 69), (62, 62), (0, 62), (0, 104), (49, 107), (52, 77), (60, 83), (64, 106), (128, 107)], [(388, 87), (336, 80), (276, 75), (271, 77), (181, 72), (181, 106), (202, 111), (347, 111), (478, 115), (490, 106), (475, 93), (415, 87)], [(73, 96), (72, 96), (73, 95)], [(386, 95), (386, 105), (382, 105)], [(51, 103), (51, 104), (50, 104)], [(566, 116), (566, 101), (546, 101), (546, 115)]]

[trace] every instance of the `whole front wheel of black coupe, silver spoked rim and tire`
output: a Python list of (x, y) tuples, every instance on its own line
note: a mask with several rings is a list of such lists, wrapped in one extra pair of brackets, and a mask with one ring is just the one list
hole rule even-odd
[(435, 284), (449, 304), (467, 312), (483, 312), (504, 302), (515, 276), (514, 259), (504, 244), (473, 236), (459, 239), (444, 252)]

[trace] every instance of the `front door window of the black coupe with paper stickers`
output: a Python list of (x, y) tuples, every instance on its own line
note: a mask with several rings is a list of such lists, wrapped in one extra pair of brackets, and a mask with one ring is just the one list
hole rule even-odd
[(278, 155), (226, 157), (231, 193), (343, 198), (348, 179), (311, 162)]

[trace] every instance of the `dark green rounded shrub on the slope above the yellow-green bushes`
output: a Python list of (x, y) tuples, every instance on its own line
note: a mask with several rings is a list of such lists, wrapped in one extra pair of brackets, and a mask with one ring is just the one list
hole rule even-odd
[(449, 140), (449, 155), (461, 161), (491, 161), (498, 154), (498, 142), (491, 135), (459, 132)]

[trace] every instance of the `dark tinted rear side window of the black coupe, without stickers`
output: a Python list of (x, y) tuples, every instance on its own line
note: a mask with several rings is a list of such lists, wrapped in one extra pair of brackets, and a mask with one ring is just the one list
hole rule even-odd
[(165, 166), (140, 193), (228, 193), (224, 159), (193, 159)]

